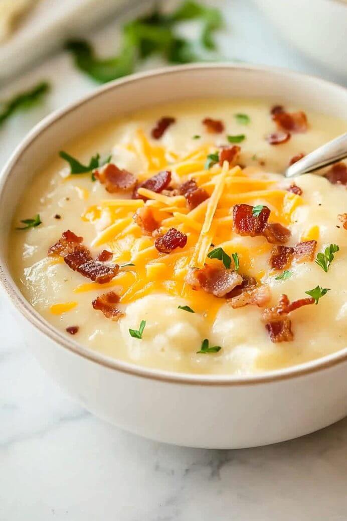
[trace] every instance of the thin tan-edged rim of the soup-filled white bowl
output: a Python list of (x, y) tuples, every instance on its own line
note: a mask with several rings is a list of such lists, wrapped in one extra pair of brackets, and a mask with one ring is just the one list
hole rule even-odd
[[(342, 85), (324, 80), (322, 78), (306, 75), (300, 72), (291, 71), (290, 69), (281, 67), (267, 67), (262, 65), (253, 64), (234, 64), (234, 63), (210, 63), (210, 64), (188, 64), (172, 67), (162, 67), (155, 70), (138, 72), (134, 75), (127, 76), (118, 80), (114, 80), (105, 85), (99, 86), (93, 92), (88, 93), (79, 100), (68, 104), (66, 107), (53, 111), (40, 122), (38, 122), (26, 137), (19, 143), (12, 152), (11, 156), (7, 160), (4, 168), (0, 173), (0, 204), (3, 198), (4, 189), (7, 180), (10, 176), (11, 171), (16, 166), (16, 163), (20, 159), (21, 155), (29, 148), (33, 141), (38, 139), (40, 135), (51, 125), (54, 125), (66, 114), (71, 113), (76, 108), (88, 103), (90, 100), (102, 96), (105, 92), (122, 88), (124, 84), (141, 81), (148, 77), (159, 77), (163, 75), (174, 75), (175, 73), (181, 73), (182, 71), (189, 70), (209, 70), (209, 69), (229, 69), (229, 70), (244, 70), (245, 72), (264, 72), (264, 73), (277, 73), (286, 77), (297, 78), (299, 81), (311, 79), (318, 84), (325, 84), (337, 90), (343, 91), (347, 95), (347, 89)], [(176, 371), (167, 371), (163, 369), (149, 368), (140, 366), (135, 363), (125, 362), (117, 358), (104, 355), (97, 351), (94, 351), (87, 346), (79, 344), (78, 342), (67, 337), (62, 331), (56, 329), (53, 325), (49, 324), (42, 315), (36, 312), (31, 306), (29, 301), (25, 299), (23, 294), (20, 292), (17, 284), (10, 274), (10, 271), (3, 263), (3, 253), (0, 252), (0, 283), (4, 288), (7, 296), (11, 302), (15, 305), (17, 310), (24, 316), (34, 328), (38, 329), (41, 333), (46, 335), (50, 340), (55, 342), (60, 347), (67, 349), (75, 355), (81, 356), (88, 359), (91, 362), (97, 363), (108, 369), (120, 371), (121, 373), (129, 374), (135, 377), (148, 378), (152, 380), (165, 381), (169, 383), (184, 383), (198, 386), (245, 386), (254, 385), (267, 382), (274, 382), (280, 380), (287, 380), (290, 378), (302, 377), (307, 374), (316, 373), (317, 371), (333, 367), (337, 364), (347, 361), (347, 347), (339, 350), (335, 353), (331, 353), (320, 358), (313, 359), (312, 361), (305, 362), (303, 364), (294, 365), (284, 369), (276, 369), (266, 371), (261, 374), (250, 374), (250, 375), (227, 375), (227, 374), (194, 374), (194, 373), (178, 373)]]

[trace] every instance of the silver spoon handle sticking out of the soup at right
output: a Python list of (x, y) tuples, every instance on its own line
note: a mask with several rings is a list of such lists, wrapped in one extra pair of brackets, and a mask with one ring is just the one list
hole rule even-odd
[(345, 157), (347, 157), (347, 132), (304, 156), (288, 167), (284, 175), (285, 177), (301, 176), (303, 173), (313, 172)]

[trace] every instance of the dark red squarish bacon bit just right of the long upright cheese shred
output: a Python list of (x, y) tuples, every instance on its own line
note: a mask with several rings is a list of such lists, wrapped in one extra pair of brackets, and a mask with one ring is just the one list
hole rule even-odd
[(233, 230), (239, 235), (262, 235), (270, 210), (267, 206), (262, 208), (259, 216), (253, 215), (253, 206), (249, 204), (236, 204), (233, 208)]

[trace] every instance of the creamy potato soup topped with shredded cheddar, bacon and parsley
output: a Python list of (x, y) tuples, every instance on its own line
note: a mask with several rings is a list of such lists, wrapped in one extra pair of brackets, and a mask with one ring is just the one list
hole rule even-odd
[(147, 367), (251, 374), (345, 348), (346, 166), (281, 172), (346, 123), (302, 110), (190, 101), (67, 144), (15, 215), (20, 290), (75, 341)]

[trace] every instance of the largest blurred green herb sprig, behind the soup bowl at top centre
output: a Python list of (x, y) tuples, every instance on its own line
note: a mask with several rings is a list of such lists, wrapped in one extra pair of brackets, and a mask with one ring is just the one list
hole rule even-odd
[(223, 25), (219, 9), (186, 0), (173, 13), (163, 14), (157, 7), (148, 15), (136, 18), (123, 26), (120, 53), (99, 58), (85, 40), (70, 40), (66, 44), (72, 52), (76, 67), (101, 83), (134, 72), (136, 65), (153, 54), (159, 54), (172, 64), (200, 61), (194, 42), (178, 36), (179, 22), (197, 19), (202, 23), (200, 43), (209, 51), (216, 48), (213, 32)]

